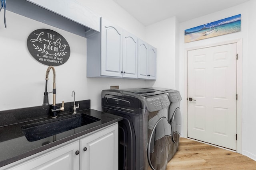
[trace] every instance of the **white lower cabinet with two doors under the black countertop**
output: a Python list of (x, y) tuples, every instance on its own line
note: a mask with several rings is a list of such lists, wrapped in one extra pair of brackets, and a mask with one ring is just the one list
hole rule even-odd
[[(118, 124), (4, 170), (118, 170)], [(8, 168), (7, 168), (8, 167)]]

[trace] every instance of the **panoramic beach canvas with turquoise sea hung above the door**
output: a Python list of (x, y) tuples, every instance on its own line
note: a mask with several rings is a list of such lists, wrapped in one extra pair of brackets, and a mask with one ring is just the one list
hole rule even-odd
[(185, 30), (185, 43), (241, 31), (241, 14)]

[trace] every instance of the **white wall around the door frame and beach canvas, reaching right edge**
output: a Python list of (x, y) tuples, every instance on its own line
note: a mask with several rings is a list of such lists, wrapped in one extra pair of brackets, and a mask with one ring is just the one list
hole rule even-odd
[[(256, 147), (254, 147), (256, 143), (256, 136), (254, 133), (252, 133), (252, 130), (256, 129), (256, 114), (253, 104), (253, 102), (256, 101), (256, 78), (253, 74), (256, 68), (256, 57), (254, 55), (254, 49), (256, 46), (256, 35), (254, 35), (254, 28), (256, 26), (255, 8), (256, 1), (250, 0), (249, 2), (234, 6), (232, 8), (180, 23), (180, 90), (183, 98), (186, 97), (184, 96), (186, 89), (186, 72), (184, 72), (184, 70), (186, 70), (186, 49), (203, 47), (212, 45), (214, 43), (221, 43), (235, 39), (242, 39), (242, 154), (247, 155), (254, 160), (256, 160)], [(241, 14), (240, 32), (190, 43), (184, 43), (185, 29), (203, 25), (205, 23), (220, 20), (222, 18), (227, 18), (237, 14)], [(183, 100), (182, 109), (184, 109), (185, 105), (186, 100)], [(182, 113), (183, 112), (184, 111), (182, 111)]]

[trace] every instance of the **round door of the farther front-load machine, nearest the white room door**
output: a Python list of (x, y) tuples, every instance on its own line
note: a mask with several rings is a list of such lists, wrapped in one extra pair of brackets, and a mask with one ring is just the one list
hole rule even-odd
[(180, 139), (180, 133), (181, 133), (181, 113), (180, 113), (180, 108), (176, 108), (171, 119), (171, 126), (172, 126), (172, 141), (174, 143), (177, 143), (178, 140)]

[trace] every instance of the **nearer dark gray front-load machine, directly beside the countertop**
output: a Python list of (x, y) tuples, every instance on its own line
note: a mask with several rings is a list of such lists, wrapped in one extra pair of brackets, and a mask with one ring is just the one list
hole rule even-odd
[(102, 90), (104, 112), (120, 115), (119, 170), (165, 170), (172, 142), (165, 92), (143, 88)]

